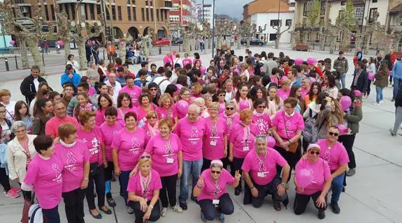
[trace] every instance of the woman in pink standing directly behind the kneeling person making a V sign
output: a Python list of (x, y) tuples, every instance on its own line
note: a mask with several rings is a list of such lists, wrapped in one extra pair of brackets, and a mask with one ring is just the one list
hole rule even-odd
[(213, 102), (208, 112), (210, 116), (205, 118), (206, 136), (203, 138), (203, 166), (201, 171), (210, 168), (212, 160), (221, 160), (227, 157), (227, 122), (218, 116), (219, 104)]

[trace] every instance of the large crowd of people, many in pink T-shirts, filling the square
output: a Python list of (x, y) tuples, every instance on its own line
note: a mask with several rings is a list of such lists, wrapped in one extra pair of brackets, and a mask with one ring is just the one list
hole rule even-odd
[[(35, 192), (51, 223), (60, 222), (62, 199), (68, 222), (84, 222), (85, 198), (96, 219), (124, 205), (135, 222), (157, 221), (168, 210), (187, 210), (189, 190), (203, 222), (224, 222), (234, 213), (227, 185), (255, 208), (271, 195), (280, 211), (292, 199), (292, 171), (296, 215), (310, 197), (318, 218), (327, 206), (338, 214), (346, 176), (356, 173), (352, 148), (370, 93), (368, 72), (377, 71), (374, 84), (381, 89), (379, 75), (389, 71), (386, 61), (377, 68), (361, 59), (347, 88), (343, 52), (333, 63), (248, 49), (245, 56), (217, 49), (205, 63), (198, 53), (180, 59), (169, 52), (164, 66), (142, 61), (136, 74), (119, 58), (99, 67), (89, 61), (86, 76), (77, 73), (73, 55), (69, 61), (62, 93), (39, 76), (38, 66), (21, 84), (26, 102), (0, 90), (1, 185), (8, 197), (22, 190), (31, 200)], [(397, 61), (393, 100), (400, 122), (393, 135), (402, 121), (401, 70)], [(117, 178), (120, 204), (110, 192)]]

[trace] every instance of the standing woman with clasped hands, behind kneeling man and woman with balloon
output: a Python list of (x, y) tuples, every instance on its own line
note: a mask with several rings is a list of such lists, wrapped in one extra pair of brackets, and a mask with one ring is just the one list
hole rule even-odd
[[(285, 158), (290, 166), (289, 176), (301, 157), (299, 144), (301, 131), (304, 129), (303, 116), (294, 110), (296, 105), (296, 99), (287, 98), (284, 102), (285, 110), (275, 115), (271, 129), (273, 137), (276, 139), (275, 150)], [(280, 173), (281, 170), (282, 167), (278, 167), (277, 173)]]

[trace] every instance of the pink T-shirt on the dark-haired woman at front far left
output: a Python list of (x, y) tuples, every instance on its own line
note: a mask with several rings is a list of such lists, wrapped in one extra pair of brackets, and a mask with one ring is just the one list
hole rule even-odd
[(34, 185), (36, 199), (41, 208), (52, 209), (62, 201), (62, 171), (63, 164), (55, 155), (49, 160), (44, 160), (36, 154), (29, 162), (24, 183)]

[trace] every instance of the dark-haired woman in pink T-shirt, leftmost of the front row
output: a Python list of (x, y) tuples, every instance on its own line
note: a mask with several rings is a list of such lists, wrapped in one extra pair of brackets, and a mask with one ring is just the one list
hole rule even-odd
[(29, 162), (27, 175), (22, 183), (22, 190), (34, 191), (43, 220), (59, 223), (59, 203), (62, 201), (63, 164), (53, 155), (53, 139), (40, 135), (34, 139), (37, 154)]

